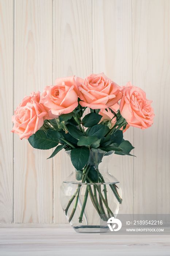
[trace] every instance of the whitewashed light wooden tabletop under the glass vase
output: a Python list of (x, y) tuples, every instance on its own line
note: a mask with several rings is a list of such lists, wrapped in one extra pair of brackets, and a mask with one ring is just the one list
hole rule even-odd
[(0, 228), (0, 256), (170, 256), (170, 236), (78, 234), (72, 227)]

